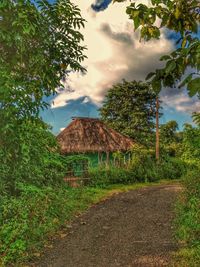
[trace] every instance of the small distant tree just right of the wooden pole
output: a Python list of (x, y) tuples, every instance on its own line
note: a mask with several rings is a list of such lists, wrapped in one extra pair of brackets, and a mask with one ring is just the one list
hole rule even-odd
[(178, 123), (176, 121), (168, 121), (160, 126), (160, 139), (163, 144), (170, 144), (177, 141)]

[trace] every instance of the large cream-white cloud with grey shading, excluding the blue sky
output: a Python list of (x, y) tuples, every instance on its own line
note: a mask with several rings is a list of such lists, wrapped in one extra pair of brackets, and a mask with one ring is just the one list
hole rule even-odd
[[(139, 42), (138, 33), (133, 31), (133, 24), (125, 12), (127, 3), (111, 4), (103, 12), (95, 13), (91, 9), (93, 0), (73, 2), (81, 8), (87, 20), (83, 30), (88, 48), (88, 59), (84, 62), (87, 74), (70, 74), (66, 90), (59, 92), (52, 104), (53, 108), (64, 106), (67, 101), (81, 96), (89, 96), (95, 103), (100, 103), (113, 83), (123, 78), (144, 80), (148, 72), (161, 66), (160, 56), (173, 49), (173, 43), (164, 34), (160, 40)], [(163, 101), (179, 111), (199, 109), (199, 104), (185, 93), (178, 92), (175, 96), (166, 94)], [(189, 106), (191, 101), (192, 108)]]

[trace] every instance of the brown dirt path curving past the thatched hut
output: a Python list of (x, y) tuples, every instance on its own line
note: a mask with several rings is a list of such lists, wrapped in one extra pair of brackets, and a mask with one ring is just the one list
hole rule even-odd
[(173, 205), (179, 185), (113, 196), (77, 218), (37, 267), (170, 266)]

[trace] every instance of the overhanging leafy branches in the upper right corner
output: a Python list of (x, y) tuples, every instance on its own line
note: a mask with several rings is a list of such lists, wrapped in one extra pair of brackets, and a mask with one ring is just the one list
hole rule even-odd
[(166, 28), (175, 31), (178, 36), (178, 48), (160, 59), (166, 62), (165, 67), (147, 76), (147, 79), (151, 79), (153, 89), (159, 92), (163, 86), (172, 87), (186, 74), (179, 87), (187, 85), (190, 96), (200, 93), (198, 36), (200, 2), (198, 0), (150, 0), (150, 6), (136, 5), (136, 2), (131, 1), (127, 7), (127, 14), (134, 22), (135, 30), (139, 28), (141, 39), (146, 41), (152, 38), (159, 39), (161, 31)]

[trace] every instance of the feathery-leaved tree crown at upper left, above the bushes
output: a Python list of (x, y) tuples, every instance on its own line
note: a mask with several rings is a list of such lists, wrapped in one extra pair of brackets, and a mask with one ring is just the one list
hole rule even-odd
[(2, 0), (0, 18), (1, 115), (38, 115), (69, 71), (84, 71), (84, 20), (66, 0)]

